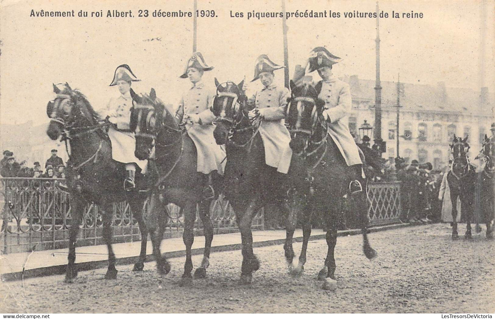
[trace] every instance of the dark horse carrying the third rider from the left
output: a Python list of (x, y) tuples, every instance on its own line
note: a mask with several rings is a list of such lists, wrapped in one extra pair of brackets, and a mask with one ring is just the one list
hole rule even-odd
[[(292, 265), (294, 250), (292, 236), (297, 216), (303, 213), (303, 250), (305, 251), (311, 233), (309, 211), (304, 210), (304, 196), (290, 192), (293, 181), (306, 184), (305, 171), (297, 169), (291, 162), (288, 174), (277, 172), (277, 168), (265, 163), (263, 140), (258, 133), (259, 121), (254, 125), (248, 118), (247, 97), (240, 89), (243, 82), (236, 85), (232, 81), (219, 83), (215, 79), (217, 94), (213, 102), (213, 114), (217, 116), (213, 135), (219, 145), (225, 144), (227, 163), (224, 175), (224, 195), (229, 200), (236, 221), (241, 231), (243, 263), (241, 266), (241, 283), (248, 284), (252, 280), (252, 272), (259, 268), (259, 262), (253, 253), (251, 222), (256, 213), (265, 208), (265, 216), (281, 210), (289, 214), (290, 222), (286, 223), (287, 238), (284, 245), (289, 269), (294, 275), (302, 272), (302, 267), (295, 269)], [(256, 125), (257, 124), (257, 125)], [(295, 160), (294, 156), (292, 160)], [(305, 262), (305, 253), (301, 254)], [(303, 264), (303, 263), (302, 263)]]

